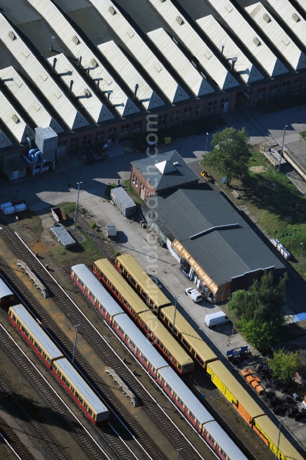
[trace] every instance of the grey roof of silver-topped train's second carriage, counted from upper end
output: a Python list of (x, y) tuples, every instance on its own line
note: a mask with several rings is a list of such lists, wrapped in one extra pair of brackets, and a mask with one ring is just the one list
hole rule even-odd
[(155, 369), (169, 367), (164, 358), (161, 357), (159, 352), (126, 314), (115, 316), (115, 322), (124, 330)]

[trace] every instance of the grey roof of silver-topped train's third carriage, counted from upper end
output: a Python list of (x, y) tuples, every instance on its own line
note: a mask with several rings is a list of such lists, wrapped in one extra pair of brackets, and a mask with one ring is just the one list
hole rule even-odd
[(193, 395), (181, 378), (175, 374), (171, 368), (162, 368), (159, 369), (158, 372), (166, 380), (167, 384), (171, 386), (178, 397), (184, 401), (186, 406), (191, 410), (192, 414), (195, 415), (200, 423), (207, 423), (214, 420), (214, 417), (209, 414), (208, 410), (202, 406), (200, 401)]

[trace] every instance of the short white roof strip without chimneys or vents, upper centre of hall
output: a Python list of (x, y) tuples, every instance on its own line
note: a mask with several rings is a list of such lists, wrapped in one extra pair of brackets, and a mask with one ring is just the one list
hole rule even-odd
[(164, 29), (152, 30), (147, 35), (195, 96), (214, 92), (214, 88), (194, 68)]

